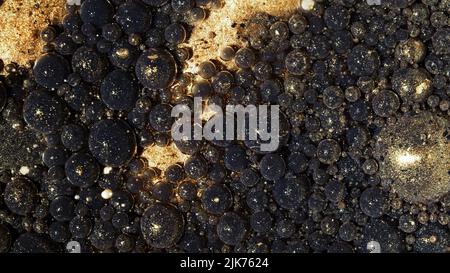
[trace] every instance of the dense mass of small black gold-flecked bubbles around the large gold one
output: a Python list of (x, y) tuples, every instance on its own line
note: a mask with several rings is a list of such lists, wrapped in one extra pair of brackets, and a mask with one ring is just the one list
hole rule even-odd
[[(220, 1), (85, 0), (42, 31), (21, 91), (26, 71), (9, 65), (0, 107), (15, 94), (46, 148), (40, 168), (2, 172), (0, 251), (446, 251), (450, 196), (403, 201), (374, 144), (404, 113), (448, 120), (449, 2), (255, 14), (236, 22), (246, 47), (184, 73), (195, 48), (183, 42), (208, 8)], [(278, 150), (175, 141), (189, 158), (150, 168), (142, 151), (173, 142), (171, 109), (196, 96), (280, 105)]]

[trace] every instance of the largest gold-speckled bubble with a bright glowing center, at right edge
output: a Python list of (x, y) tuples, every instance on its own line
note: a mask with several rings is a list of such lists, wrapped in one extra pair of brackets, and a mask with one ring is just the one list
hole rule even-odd
[(430, 112), (407, 114), (376, 138), (380, 176), (413, 203), (437, 201), (450, 191), (448, 117)]

